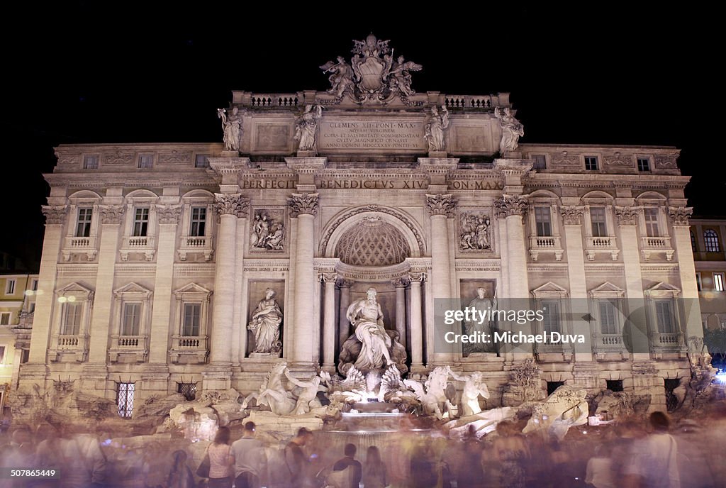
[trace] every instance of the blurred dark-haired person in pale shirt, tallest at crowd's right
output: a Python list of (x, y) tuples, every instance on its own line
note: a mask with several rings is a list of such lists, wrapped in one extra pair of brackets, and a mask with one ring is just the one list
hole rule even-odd
[(624, 468), (623, 486), (680, 488), (678, 445), (668, 434), (670, 419), (664, 412), (653, 412), (649, 420), (653, 432), (633, 443)]

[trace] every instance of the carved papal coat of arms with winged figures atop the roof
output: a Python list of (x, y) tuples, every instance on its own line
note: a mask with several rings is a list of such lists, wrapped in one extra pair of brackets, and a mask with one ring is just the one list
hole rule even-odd
[(415, 93), (411, 88), (411, 72), (423, 67), (406, 61), (403, 56), (395, 58), (393, 49), (388, 47), (391, 41), (379, 41), (372, 33), (365, 41), (353, 42), (350, 64), (338, 56), (337, 61), (320, 67), (323, 73), (330, 73), (327, 92), (338, 100), (347, 94), (359, 103), (386, 103), (396, 96), (407, 102), (407, 97)]

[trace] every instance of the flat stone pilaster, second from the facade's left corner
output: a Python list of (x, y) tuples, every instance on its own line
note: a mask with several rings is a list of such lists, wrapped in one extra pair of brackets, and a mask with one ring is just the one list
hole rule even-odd
[[(118, 251), (118, 232), (123, 222), (123, 206), (102, 205), (101, 239), (98, 252), (98, 272), (96, 293), (94, 294), (93, 313), (91, 314), (91, 345), (89, 347), (89, 366), (103, 365), (105, 368), (108, 352), (109, 333), (118, 333), (118, 320), (111, 317), (113, 306), (113, 282), (115, 276), (116, 252)], [(120, 318), (120, 317), (119, 317)]]

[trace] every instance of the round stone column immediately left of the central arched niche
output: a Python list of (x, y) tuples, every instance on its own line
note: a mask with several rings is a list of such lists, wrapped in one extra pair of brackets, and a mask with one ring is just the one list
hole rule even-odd
[(287, 200), (291, 216), (298, 219), (295, 254), (295, 298), (291, 366), (305, 369), (313, 362), (315, 270), (313, 268), (314, 219), (317, 193), (293, 193)]

